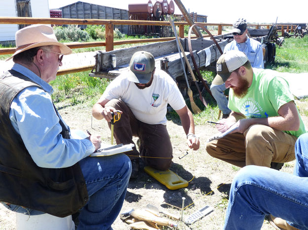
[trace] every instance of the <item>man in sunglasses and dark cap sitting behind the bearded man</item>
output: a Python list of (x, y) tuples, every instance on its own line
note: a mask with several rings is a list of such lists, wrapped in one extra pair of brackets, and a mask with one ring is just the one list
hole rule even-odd
[[(225, 46), (224, 53), (229, 50), (238, 50), (243, 52), (253, 68), (264, 68), (262, 44), (248, 36), (246, 20), (239, 19), (233, 24), (233, 41)], [(228, 99), (224, 91), (225, 83), (215, 85), (212, 83), (210, 90), (215, 98), (218, 108), (222, 112), (222, 118), (228, 118), (231, 110), (228, 108)]]

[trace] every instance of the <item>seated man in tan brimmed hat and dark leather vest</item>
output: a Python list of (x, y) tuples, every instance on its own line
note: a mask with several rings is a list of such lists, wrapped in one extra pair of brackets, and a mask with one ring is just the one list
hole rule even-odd
[(131, 164), (124, 154), (89, 157), (100, 136), (73, 137), (53, 105), (48, 83), (70, 53), (49, 26), (16, 32), (14, 66), (0, 77), (0, 201), (30, 215), (80, 210), (78, 229), (109, 229)]

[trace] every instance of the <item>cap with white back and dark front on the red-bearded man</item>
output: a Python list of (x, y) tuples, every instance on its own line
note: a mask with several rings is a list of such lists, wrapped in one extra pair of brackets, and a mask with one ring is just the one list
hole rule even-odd
[(214, 85), (221, 85), (230, 77), (231, 73), (248, 61), (247, 56), (238, 50), (230, 50), (220, 56), (216, 62), (217, 75), (212, 81)]

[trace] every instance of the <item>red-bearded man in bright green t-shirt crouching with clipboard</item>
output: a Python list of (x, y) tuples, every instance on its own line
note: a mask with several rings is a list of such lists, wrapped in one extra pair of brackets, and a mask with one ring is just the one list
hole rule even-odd
[(209, 155), (236, 165), (281, 169), (295, 159), (297, 138), (307, 130), (289, 90), (278, 72), (252, 68), (246, 55), (232, 50), (216, 64), (213, 84), (230, 88), (230, 116), (216, 125), (220, 132), (236, 130), (206, 144)]

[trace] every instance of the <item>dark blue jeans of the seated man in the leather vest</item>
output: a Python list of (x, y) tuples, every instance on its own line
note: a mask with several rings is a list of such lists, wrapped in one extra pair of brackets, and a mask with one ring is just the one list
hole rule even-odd
[[(125, 154), (107, 157), (86, 157), (79, 161), (89, 195), (89, 201), (80, 210), (78, 230), (110, 230), (118, 216), (126, 195), (132, 172), (130, 159)], [(19, 205), (2, 204), (8, 209), (27, 214), (44, 212)]]

